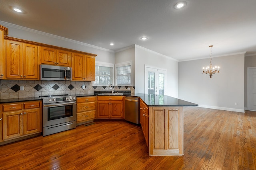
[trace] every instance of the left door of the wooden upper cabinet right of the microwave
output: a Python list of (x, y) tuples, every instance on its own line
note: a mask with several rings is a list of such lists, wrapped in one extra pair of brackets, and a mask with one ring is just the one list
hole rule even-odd
[(72, 53), (72, 80), (84, 80), (84, 55)]

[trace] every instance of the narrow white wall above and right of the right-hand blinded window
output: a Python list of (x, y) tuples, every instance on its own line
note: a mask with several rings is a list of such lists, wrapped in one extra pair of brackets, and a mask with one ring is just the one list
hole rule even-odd
[(132, 61), (132, 86), (135, 86), (135, 45), (121, 49), (115, 53), (115, 64)]

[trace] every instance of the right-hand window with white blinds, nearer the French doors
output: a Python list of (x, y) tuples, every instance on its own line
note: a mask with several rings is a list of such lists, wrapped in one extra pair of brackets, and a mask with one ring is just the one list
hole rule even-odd
[(116, 64), (116, 86), (132, 86), (132, 62)]

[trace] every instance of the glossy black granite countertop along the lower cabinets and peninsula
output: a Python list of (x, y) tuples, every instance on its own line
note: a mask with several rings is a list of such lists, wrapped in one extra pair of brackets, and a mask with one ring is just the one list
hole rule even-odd
[[(104, 93), (104, 91), (102, 91)], [(85, 97), (85, 96), (97, 96), (98, 94), (78, 94), (76, 97)], [(141, 98), (148, 106), (198, 106), (191, 102), (173, 98), (166, 95), (154, 95), (154, 94), (144, 94), (144, 93), (123, 93), (122, 96), (131, 96)], [(27, 102), (34, 100), (42, 100), (41, 98), (17, 98), (17, 99), (0, 99), (0, 104), (3, 103), (12, 103), (12, 102)]]

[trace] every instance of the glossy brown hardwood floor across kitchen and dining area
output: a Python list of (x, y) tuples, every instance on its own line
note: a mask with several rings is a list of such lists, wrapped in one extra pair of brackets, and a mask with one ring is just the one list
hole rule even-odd
[(256, 112), (184, 107), (184, 156), (148, 156), (139, 126), (102, 121), (0, 146), (0, 169), (254, 170)]

